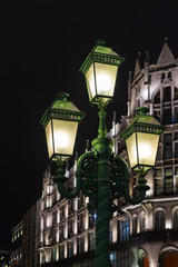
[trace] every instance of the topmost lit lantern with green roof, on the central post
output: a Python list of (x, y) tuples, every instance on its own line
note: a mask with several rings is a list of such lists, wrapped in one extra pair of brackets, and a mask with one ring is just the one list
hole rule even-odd
[(103, 40), (97, 41), (80, 68), (86, 77), (91, 102), (108, 102), (112, 99), (118, 67), (122, 61), (123, 58), (107, 47)]

